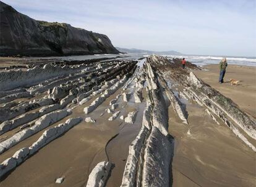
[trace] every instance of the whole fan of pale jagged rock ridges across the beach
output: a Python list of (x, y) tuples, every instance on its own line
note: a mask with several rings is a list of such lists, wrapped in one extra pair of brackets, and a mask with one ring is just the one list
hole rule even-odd
[[(16, 79), (21, 78), (20, 84), (10, 84), (11, 86), (5, 87), (12, 90), (6, 91), (4, 88), (0, 91), (0, 103), (2, 103), (0, 109), (0, 154), (6, 151), (7, 153), (2, 155), (9, 155), (8, 151), (12, 151), (8, 150), (9, 148), (22, 141), (27, 142), (25, 139), (33, 138), (32, 135), (40, 133), (41, 137), (38, 140), (33, 140), (34, 143), (31, 146), (25, 148), (22, 146), (15, 148), (14, 146), (12, 149), (15, 149), (15, 154), (0, 164), (0, 178), (11, 174), (10, 171), (36, 154), (43, 146), (82, 121), (80, 117), (71, 118), (54, 126), (56, 122), (68, 116), (71, 111), (75, 113), (72, 116), (77, 116), (77, 109), (73, 110), (74, 108), (83, 108), (83, 112), (88, 114), (98, 106), (101, 107), (109, 97), (111, 97), (109, 105), (103, 105), (105, 111), (111, 114), (108, 114), (110, 117), (107, 119), (109, 122), (122, 119), (124, 126), (126, 125), (130, 129), (137, 129), (136, 125), (138, 125), (137, 121), (140, 120), (140, 117), (136, 117), (136, 115), (140, 114), (140, 107), (145, 106), (144, 103), (137, 103), (147, 101), (139, 134), (129, 146), (129, 154), (122, 176), (122, 187), (172, 185), (171, 161), (174, 154), (174, 139), (168, 133), (167, 103), (173, 106), (177, 116), (181, 119), (179, 124), (182, 125), (182, 122), (187, 124), (188, 131), (184, 135), (194, 136), (193, 130), (190, 132), (186, 102), (182, 98), (187, 98), (188, 102), (191, 100), (197, 102), (200, 109), (208, 113), (213, 121), (220, 125), (221, 122), (228, 125), (237, 137), (256, 151), (255, 146), (250, 142), (256, 138), (255, 119), (242, 112), (232, 100), (205, 84), (195, 74), (190, 73), (189, 67), (182, 70), (172, 60), (155, 55), (147, 58), (142, 69), (135, 63), (131, 60), (115, 60), (91, 65), (37, 66), (34, 69), (38, 72), (45, 71), (39, 70), (40, 68), (49, 68), (49, 70), (56, 68), (56, 71), (60, 72), (62, 69), (70, 70), (69, 74), (56, 73), (53, 74), (53, 77), (45, 75), (45, 78), (38, 78), (37, 85), (35, 85), (36, 80), (26, 83), (22, 78), (23, 73), (18, 70)], [(33, 68), (28, 69), (31, 69), (28, 74), (33, 75)], [(7, 71), (7, 77), (13, 73), (10, 72)], [(50, 72), (52, 71), (50, 70)], [(133, 76), (131, 76), (132, 73), (134, 73)], [(12, 81), (9, 78), (6, 80), (7, 82)], [(130, 86), (131, 83), (132, 86)], [(147, 86), (146, 89), (144, 89), (144, 83)], [(27, 89), (14, 89), (14, 87), (23, 87), (24, 85)], [(120, 93), (113, 97), (117, 90)], [(182, 98), (179, 97), (179, 94)], [(26, 100), (15, 101), (15, 97), (26, 98)], [(30, 97), (32, 98), (27, 100)], [(119, 97), (121, 97), (120, 100)], [(92, 103), (87, 105), (89, 100), (92, 100)], [(122, 108), (130, 104), (140, 107), (137, 108), (137, 111), (133, 111), (134, 109), (130, 111), (131, 108), (129, 108), (130, 113), (124, 117)], [(104, 114), (105, 112), (100, 116)], [(95, 113), (92, 116), (96, 117)], [(97, 117), (93, 119), (84, 116), (83, 118), (85, 122), (100, 122)], [(137, 118), (136, 122), (135, 118)], [(126, 123), (135, 123), (135, 125)], [(92, 124), (85, 125), (93, 126)], [(95, 125), (97, 126), (97, 124)], [(47, 130), (45, 130), (46, 128)], [(45, 132), (41, 132), (41, 130), (45, 130)], [(6, 132), (8, 133), (4, 135)], [(98, 163), (90, 173), (87, 186), (106, 186), (111, 167), (110, 162)]]

